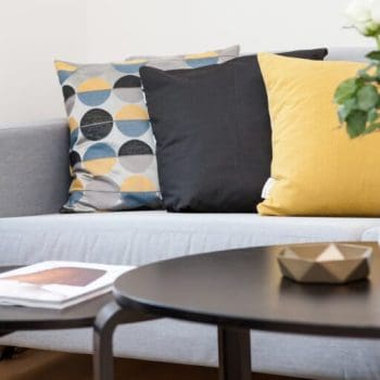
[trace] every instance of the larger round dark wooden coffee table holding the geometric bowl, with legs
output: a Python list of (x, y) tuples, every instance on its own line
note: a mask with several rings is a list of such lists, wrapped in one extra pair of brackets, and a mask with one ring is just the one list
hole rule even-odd
[(185, 256), (131, 270), (116, 280), (116, 302), (96, 321), (96, 379), (112, 379), (115, 326), (139, 318), (216, 325), (223, 380), (251, 379), (250, 329), (380, 338), (380, 256), (377, 244), (367, 245), (375, 250), (369, 280), (345, 286), (282, 278), (276, 258), (280, 245)]

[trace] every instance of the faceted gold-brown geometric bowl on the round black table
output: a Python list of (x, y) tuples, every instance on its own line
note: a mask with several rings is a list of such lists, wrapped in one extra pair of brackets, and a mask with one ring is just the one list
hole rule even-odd
[(344, 243), (290, 245), (278, 255), (284, 277), (305, 283), (346, 283), (367, 278), (372, 249)]

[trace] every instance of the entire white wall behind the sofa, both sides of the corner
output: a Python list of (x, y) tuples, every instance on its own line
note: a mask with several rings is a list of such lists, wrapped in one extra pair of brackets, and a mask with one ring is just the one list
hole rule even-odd
[(64, 115), (52, 60), (368, 46), (347, 0), (1, 0), (0, 122)]

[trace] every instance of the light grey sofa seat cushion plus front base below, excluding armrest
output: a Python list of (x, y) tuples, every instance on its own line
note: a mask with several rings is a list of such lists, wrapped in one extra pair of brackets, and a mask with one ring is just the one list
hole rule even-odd
[[(363, 240), (376, 218), (124, 212), (0, 218), (1, 264), (73, 259), (142, 265), (178, 255), (275, 243)], [(157, 320), (123, 326), (115, 355), (215, 366), (215, 327)], [(13, 344), (91, 352), (91, 331), (22, 331)], [(252, 332), (253, 369), (314, 379), (380, 379), (379, 342)]]

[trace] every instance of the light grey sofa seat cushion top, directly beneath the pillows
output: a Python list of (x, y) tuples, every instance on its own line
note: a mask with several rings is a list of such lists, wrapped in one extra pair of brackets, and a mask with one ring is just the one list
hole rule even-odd
[(147, 263), (235, 248), (359, 241), (378, 218), (174, 214), (165, 211), (0, 218), (0, 265), (67, 259)]

